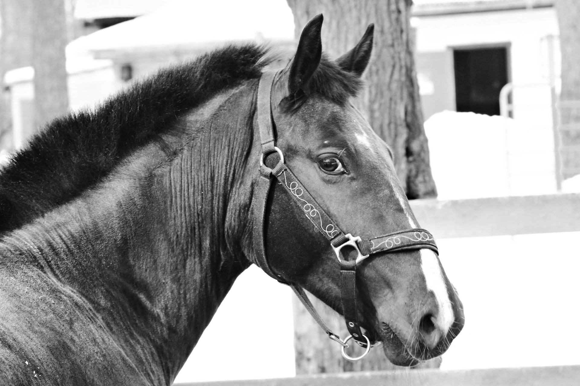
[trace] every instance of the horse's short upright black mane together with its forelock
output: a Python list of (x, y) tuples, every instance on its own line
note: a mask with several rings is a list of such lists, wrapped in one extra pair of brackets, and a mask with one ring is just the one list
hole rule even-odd
[[(48, 123), (0, 170), (0, 232), (95, 186), (135, 150), (170, 130), (179, 116), (220, 91), (259, 79), (274, 60), (267, 53), (254, 43), (216, 49), (133, 83), (92, 111)], [(323, 55), (301, 99), (318, 93), (343, 104), (360, 88), (357, 76)]]

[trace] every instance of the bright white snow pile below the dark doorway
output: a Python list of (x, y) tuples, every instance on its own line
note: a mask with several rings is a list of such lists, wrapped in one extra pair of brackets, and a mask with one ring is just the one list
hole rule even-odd
[(551, 127), (443, 111), (425, 133), (441, 200), (556, 193)]

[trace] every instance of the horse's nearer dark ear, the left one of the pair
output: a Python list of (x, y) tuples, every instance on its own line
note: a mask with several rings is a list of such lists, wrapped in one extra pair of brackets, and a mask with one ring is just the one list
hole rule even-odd
[(290, 94), (296, 93), (308, 82), (320, 63), (320, 56), (322, 55), (322, 41), (320, 39), (322, 20), (322, 13), (318, 14), (302, 30), (298, 49), (290, 67), (288, 78), (288, 91)]

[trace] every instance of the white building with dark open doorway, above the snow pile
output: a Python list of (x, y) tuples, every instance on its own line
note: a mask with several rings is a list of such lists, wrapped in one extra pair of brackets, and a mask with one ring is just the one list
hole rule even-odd
[(510, 116), (535, 121), (539, 100), (551, 115), (543, 102), (560, 68), (553, 0), (418, 0), (413, 15), (426, 118), (443, 110), (500, 115), (507, 83)]

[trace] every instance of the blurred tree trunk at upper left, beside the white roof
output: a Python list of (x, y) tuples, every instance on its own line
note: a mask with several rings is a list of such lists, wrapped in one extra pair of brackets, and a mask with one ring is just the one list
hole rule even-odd
[(66, 14), (63, 0), (34, 1), (32, 7), (32, 67), (35, 126), (68, 110)]

